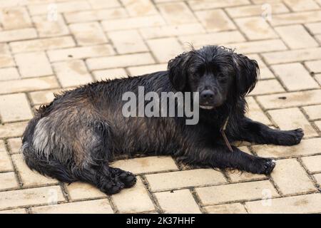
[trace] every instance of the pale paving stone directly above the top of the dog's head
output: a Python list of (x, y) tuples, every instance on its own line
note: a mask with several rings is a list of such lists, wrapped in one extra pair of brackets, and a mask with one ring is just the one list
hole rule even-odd
[(193, 43), (195, 48), (201, 48), (202, 46), (208, 45), (208, 43), (220, 45), (221, 43), (245, 41), (244, 36), (239, 31), (178, 36), (178, 39), (180, 40), (180, 43)]

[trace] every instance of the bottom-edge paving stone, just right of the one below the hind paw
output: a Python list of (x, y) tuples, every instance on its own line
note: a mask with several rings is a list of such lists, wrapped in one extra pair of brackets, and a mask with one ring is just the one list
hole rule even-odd
[(200, 214), (200, 208), (190, 190), (157, 192), (155, 196), (165, 214)]

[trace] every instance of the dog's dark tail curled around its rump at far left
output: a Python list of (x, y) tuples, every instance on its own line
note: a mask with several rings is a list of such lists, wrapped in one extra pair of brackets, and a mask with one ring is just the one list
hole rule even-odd
[(75, 182), (76, 178), (67, 165), (55, 160), (54, 157), (45, 157), (34, 149), (34, 131), (40, 119), (40, 116), (36, 116), (29, 122), (24, 131), (21, 152), (24, 155), (26, 165), (28, 165), (31, 170), (36, 170), (42, 175), (56, 178), (61, 182)]

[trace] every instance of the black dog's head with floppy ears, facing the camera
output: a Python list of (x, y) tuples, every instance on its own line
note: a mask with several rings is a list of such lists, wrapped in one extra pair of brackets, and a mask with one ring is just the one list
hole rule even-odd
[(258, 80), (258, 63), (222, 46), (205, 46), (168, 63), (170, 81), (178, 91), (198, 92), (200, 108), (213, 109), (229, 95), (243, 98)]

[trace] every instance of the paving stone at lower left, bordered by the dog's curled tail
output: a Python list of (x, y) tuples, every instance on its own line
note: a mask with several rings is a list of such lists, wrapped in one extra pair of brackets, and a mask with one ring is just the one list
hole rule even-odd
[(19, 172), (22, 184), (24, 187), (36, 187), (40, 185), (53, 185), (58, 184), (58, 180), (45, 177), (36, 170), (31, 170), (24, 162), (22, 154), (11, 155), (12, 160), (16, 166), (16, 170)]

